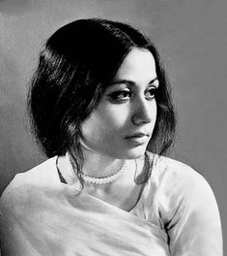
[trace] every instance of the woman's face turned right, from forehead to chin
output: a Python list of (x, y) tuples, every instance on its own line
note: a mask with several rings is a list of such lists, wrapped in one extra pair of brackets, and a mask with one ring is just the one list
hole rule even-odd
[(157, 87), (152, 53), (132, 48), (98, 108), (82, 124), (82, 144), (113, 158), (142, 156), (156, 123)]

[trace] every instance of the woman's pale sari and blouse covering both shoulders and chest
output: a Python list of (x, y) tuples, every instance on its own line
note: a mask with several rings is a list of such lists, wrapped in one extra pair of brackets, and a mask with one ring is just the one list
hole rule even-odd
[(184, 164), (158, 159), (128, 212), (60, 182), (55, 161), (16, 175), (5, 190), (2, 256), (222, 255), (213, 191)]

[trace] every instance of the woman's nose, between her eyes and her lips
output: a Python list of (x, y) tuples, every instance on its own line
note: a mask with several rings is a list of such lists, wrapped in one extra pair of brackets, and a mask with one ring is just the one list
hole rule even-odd
[(135, 125), (152, 122), (156, 118), (156, 100), (148, 101), (145, 98), (137, 99), (131, 121)]

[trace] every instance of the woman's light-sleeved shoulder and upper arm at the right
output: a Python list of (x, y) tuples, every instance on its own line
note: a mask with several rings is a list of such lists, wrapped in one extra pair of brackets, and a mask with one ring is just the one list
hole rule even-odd
[(150, 190), (155, 195), (152, 211), (156, 223), (168, 233), (170, 251), (221, 255), (219, 210), (205, 177), (182, 162), (156, 156), (150, 183), (155, 187)]

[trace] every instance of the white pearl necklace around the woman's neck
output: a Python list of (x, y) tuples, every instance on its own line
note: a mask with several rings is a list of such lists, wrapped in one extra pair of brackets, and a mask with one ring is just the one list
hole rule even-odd
[(91, 183), (94, 185), (102, 185), (107, 184), (115, 181), (119, 176), (121, 176), (124, 171), (128, 168), (128, 165), (126, 164), (126, 161), (122, 165), (122, 167), (113, 175), (111, 176), (103, 176), (103, 177), (95, 177), (95, 176), (87, 176), (85, 174), (82, 174), (82, 178), (86, 183)]

